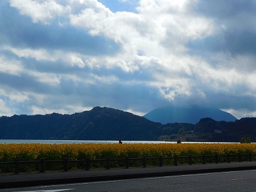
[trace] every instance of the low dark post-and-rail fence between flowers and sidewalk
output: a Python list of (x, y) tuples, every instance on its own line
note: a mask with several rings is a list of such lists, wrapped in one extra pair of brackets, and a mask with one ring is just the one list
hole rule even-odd
[[(140, 161), (140, 166), (143, 166), (144, 168), (147, 167), (147, 162), (150, 160), (154, 160), (158, 162), (158, 166), (163, 166), (163, 162), (165, 160), (170, 160), (174, 166), (177, 166), (178, 164), (186, 164), (188, 163), (189, 165), (193, 164), (194, 159), (200, 159), (202, 164), (206, 164), (206, 159), (211, 159), (210, 161), (212, 163), (220, 163), (219, 160), (221, 158), (221, 162), (227, 162), (230, 163), (231, 161), (237, 161), (237, 162), (242, 162), (242, 161), (252, 161), (253, 157), (256, 157), (256, 154), (252, 154), (251, 152), (248, 154), (214, 154), (214, 155), (205, 155), (202, 154), (200, 156), (172, 156), (172, 157), (136, 157), (136, 158), (131, 158), (131, 157), (125, 157), (122, 159), (111, 159), (109, 157), (106, 157), (106, 159), (90, 159), (86, 158), (83, 160), (70, 160), (68, 158), (65, 158), (63, 160), (46, 160), (44, 158), (41, 158), (39, 161), (19, 161), (19, 159), (15, 159), (15, 161), (6, 161), (6, 162), (0, 162), (0, 165), (5, 165), (5, 164), (14, 164), (14, 173), (19, 173), (20, 172), (20, 164), (38, 164), (39, 167), (39, 172), (44, 173), (45, 172), (45, 164), (51, 164), (51, 163), (61, 163), (63, 164), (63, 170), (65, 172), (68, 171), (68, 163), (82, 163), (84, 170), (90, 170), (90, 165), (92, 163), (103, 163), (106, 165), (106, 169), (109, 170), (111, 168), (111, 162), (113, 161), (123, 161), (124, 162), (124, 168), (129, 168), (131, 161)], [(185, 159), (185, 162), (184, 162)], [(254, 158), (255, 159), (255, 158)]]

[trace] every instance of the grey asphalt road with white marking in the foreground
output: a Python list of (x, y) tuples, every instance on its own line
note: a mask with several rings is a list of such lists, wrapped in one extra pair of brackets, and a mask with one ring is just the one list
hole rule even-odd
[(0, 191), (256, 191), (256, 170), (84, 182), (55, 186), (3, 189)]

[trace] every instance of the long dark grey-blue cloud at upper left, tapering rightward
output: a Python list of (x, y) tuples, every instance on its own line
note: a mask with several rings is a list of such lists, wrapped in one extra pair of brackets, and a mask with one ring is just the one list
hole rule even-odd
[[(17, 2), (20, 2), (19, 4), (22, 4), (23, 8), (24, 3), (21, 3), (22, 1)], [(35, 3), (35, 1), (31, 2)], [(2, 4), (3, 7), (8, 6), (4, 1)], [(47, 7), (51, 7), (51, 4), (45, 4), (45, 8)], [(39, 9), (36, 12), (45, 13), (44, 9)], [(29, 16), (33, 17), (33, 15)], [(118, 44), (104, 36), (90, 36), (83, 29), (72, 28), (70, 25), (61, 26), (56, 17), (52, 17), (51, 23), (47, 25), (38, 22), (33, 23), (28, 17), (19, 15), (19, 12), (14, 8), (3, 9), (0, 12), (0, 17), (4, 18), (0, 23), (1, 29), (4, 29), (0, 31), (0, 40), (3, 45), (22, 49), (63, 50), (87, 55), (115, 54), (119, 49)], [(19, 22), (17, 22), (17, 18), (19, 18)], [(11, 26), (10, 23), (12, 23)]]

